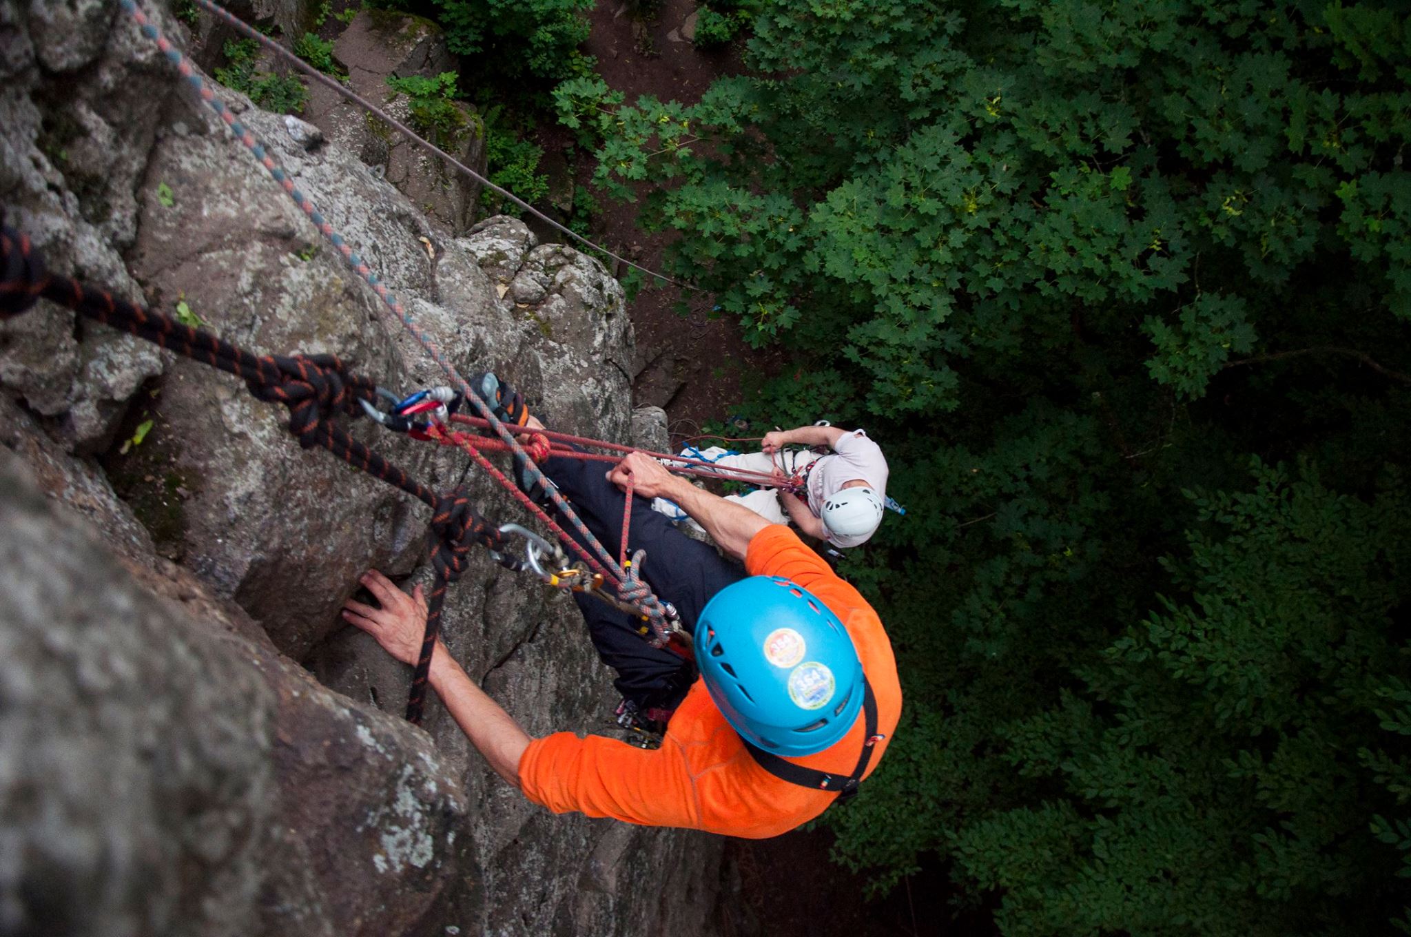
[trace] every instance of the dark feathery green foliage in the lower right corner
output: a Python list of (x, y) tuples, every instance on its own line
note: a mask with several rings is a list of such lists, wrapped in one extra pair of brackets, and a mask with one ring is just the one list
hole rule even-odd
[[(1395, 910), (1379, 838), (1405, 837), (1377, 810), (1405, 800), (1350, 755), (1393, 742), (1379, 687), (1407, 669), (1387, 614), (1411, 502), (1395, 476), (1362, 501), (1308, 468), (1253, 474), (1192, 495), (1208, 528), (1164, 563), (1182, 598), (1082, 667), (1082, 696), (1005, 728), (1005, 759), (1061, 792), (954, 837), (968, 878), (1006, 888), (1006, 933), (1277, 934)], [(1013, 848), (1031, 842), (1061, 848), (1034, 864)]]

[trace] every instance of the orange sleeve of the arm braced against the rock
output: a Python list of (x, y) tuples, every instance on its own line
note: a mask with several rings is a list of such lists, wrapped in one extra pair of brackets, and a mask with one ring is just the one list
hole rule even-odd
[(555, 732), (519, 758), (519, 787), (555, 813), (653, 827), (696, 827), (700, 806), (680, 746), (646, 751), (604, 735)]

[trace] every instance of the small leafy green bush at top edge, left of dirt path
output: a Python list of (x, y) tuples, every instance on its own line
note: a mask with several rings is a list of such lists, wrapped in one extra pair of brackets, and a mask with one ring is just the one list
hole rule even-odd
[(574, 73), (594, 0), (432, 0), (452, 52), (497, 79)]

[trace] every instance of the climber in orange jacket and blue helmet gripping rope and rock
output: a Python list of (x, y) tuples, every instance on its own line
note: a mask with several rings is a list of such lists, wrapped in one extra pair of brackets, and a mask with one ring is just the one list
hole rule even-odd
[[(538, 425), (512, 406), (504, 416)], [(547, 460), (545, 474), (593, 526), (593, 511), (580, 498), (591, 508), (604, 492), (587, 490), (586, 463), (556, 467), (559, 461), (570, 460)], [(667, 538), (687, 539), (650, 511), (656, 497), (676, 501), (725, 553), (744, 562), (745, 573), (737, 570), (734, 581), (715, 580), (728, 584), (704, 597), (703, 608), (682, 610), (683, 624), (694, 632), (700, 676), (676, 659), (693, 679), (669, 701), (673, 711), (660, 748), (571, 732), (531, 738), (437, 645), (432, 687), (471, 744), (505, 780), (555, 813), (646, 826), (763, 838), (793, 830), (840, 794), (854, 793), (885, 754), (902, 713), (892, 646), (871, 605), (787, 526), (696, 488), (655, 459), (634, 453), (607, 480), (601, 471), (593, 474), (615, 495), (618, 524), (624, 504), (618, 488), (631, 476), (634, 528), (642, 515), (660, 525), (662, 532), (650, 535), (658, 539), (648, 546), (646, 569), (670, 556), (674, 540)], [(605, 504), (601, 514), (611, 509)], [(602, 528), (605, 533), (610, 525)], [(608, 542), (612, 552), (617, 546)], [(700, 564), (698, 556), (693, 564)], [(673, 580), (682, 588), (696, 576), (662, 570), (663, 577), (667, 573), (686, 577)], [(406, 596), (377, 572), (363, 583), (381, 607), (350, 601), (344, 617), (404, 663), (415, 662), (426, 617), (420, 587)], [(660, 591), (655, 581), (653, 587)], [(672, 594), (663, 598), (674, 601)], [(600, 639), (602, 622), (590, 618), (588, 627), (604, 659), (618, 669), (618, 686), (631, 684), (632, 675), (624, 675), (631, 663)], [(638, 641), (643, 653), (650, 651)]]

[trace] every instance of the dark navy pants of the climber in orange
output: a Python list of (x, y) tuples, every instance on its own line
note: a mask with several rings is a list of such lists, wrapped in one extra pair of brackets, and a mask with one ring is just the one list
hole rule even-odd
[[(607, 480), (607, 463), (580, 459), (549, 459), (540, 468), (604, 548), (618, 556), (622, 540), (622, 502), (626, 495)], [(580, 543), (579, 531), (559, 518), (563, 528)], [(745, 570), (724, 559), (714, 548), (693, 540), (652, 509), (649, 498), (632, 500), (632, 524), (628, 528), (628, 556), (646, 550), (642, 579), (663, 601), (676, 605), (682, 627), (694, 631), (696, 619), (711, 596), (745, 577)], [(591, 549), (591, 548), (590, 548)], [(696, 680), (696, 666), (665, 648), (646, 642), (634, 618), (611, 605), (576, 593), (579, 610), (588, 625), (588, 636), (602, 663), (617, 670), (614, 684), (638, 708), (674, 708)]]

